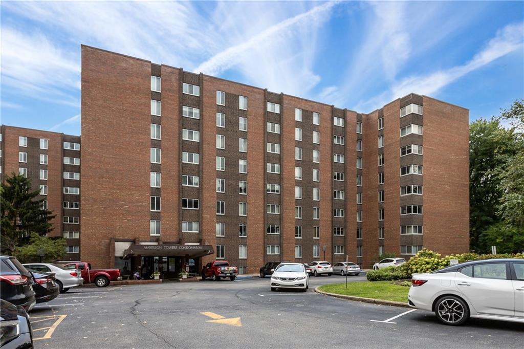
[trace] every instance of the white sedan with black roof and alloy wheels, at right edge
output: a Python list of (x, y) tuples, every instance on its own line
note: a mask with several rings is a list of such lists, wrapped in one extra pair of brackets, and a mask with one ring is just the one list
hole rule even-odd
[(524, 259), (487, 259), (413, 274), (413, 308), (434, 311), (446, 325), (468, 318), (524, 323)]

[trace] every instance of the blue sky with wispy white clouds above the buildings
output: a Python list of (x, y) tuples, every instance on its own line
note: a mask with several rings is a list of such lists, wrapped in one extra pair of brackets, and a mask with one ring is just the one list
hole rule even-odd
[(368, 113), (524, 96), (523, 2), (9, 2), (1, 122), (80, 134), (80, 44)]

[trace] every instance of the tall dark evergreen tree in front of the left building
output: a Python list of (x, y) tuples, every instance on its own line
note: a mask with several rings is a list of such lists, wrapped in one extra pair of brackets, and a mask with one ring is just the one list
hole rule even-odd
[(45, 235), (52, 231), (52, 212), (43, 209), (40, 192), (31, 189), (31, 181), (13, 173), (0, 187), (3, 254), (12, 254), (15, 247), (27, 242), (29, 233)]

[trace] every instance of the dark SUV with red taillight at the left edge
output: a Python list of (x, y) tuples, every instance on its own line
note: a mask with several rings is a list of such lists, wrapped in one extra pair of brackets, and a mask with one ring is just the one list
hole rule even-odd
[(36, 304), (31, 273), (12, 256), (0, 256), (0, 295), (15, 306), (30, 311)]

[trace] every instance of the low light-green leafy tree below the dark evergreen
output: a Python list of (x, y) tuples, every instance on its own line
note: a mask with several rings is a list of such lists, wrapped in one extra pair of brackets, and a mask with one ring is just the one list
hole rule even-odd
[(62, 237), (51, 238), (31, 233), (29, 244), (15, 247), (13, 255), (18, 258), (21, 263), (37, 263), (40, 261), (38, 250), (42, 249), (42, 262), (50, 263), (63, 258), (65, 255), (65, 247), (67, 247), (67, 242)]

